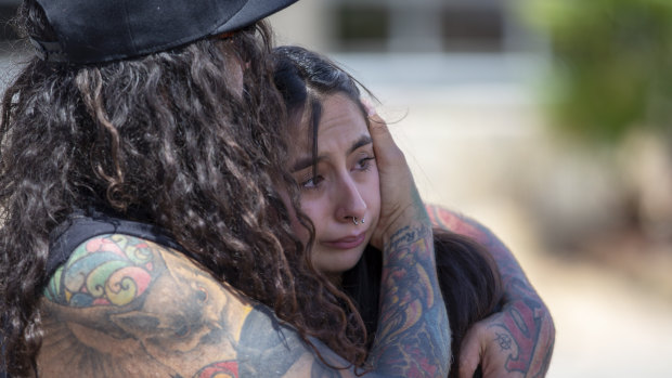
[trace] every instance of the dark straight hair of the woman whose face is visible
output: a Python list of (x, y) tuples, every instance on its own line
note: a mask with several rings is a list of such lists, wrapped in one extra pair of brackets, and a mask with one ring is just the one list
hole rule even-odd
[[(362, 91), (373, 94), (336, 63), (300, 47), (280, 47), (273, 50), (275, 84), (280, 89), (290, 122), (309, 120), (313, 169), (318, 157), (318, 131), (322, 102), (328, 95), (345, 94), (358, 104), (369, 122), (361, 102)], [(360, 90), (360, 88), (362, 90)], [(375, 97), (374, 97), (375, 99)], [(501, 277), (492, 257), (475, 240), (445, 231), (434, 230), (435, 252), (439, 286), (443, 294), (452, 330), (451, 350), (460, 355), (460, 347), (468, 328), (492, 314), (502, 300)], [(367, 246), (362, 259), (343, 275), (343, 289), (358, 307), (373, 340), (378, 324), (383, 258), (379, 250)], [(450, 377), (457, 377), (455, 360)]]

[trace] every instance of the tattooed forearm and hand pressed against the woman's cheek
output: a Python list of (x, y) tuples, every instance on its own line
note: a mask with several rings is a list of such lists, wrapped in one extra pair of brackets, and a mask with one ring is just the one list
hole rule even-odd
[(369, 131), (380, 184), (380, 217), (371, 243), (383, 247), (373, 366), (403, 377), (445, 377), (451, 335), (438, 284), (431, 222), (403, 153), (373, 109)]

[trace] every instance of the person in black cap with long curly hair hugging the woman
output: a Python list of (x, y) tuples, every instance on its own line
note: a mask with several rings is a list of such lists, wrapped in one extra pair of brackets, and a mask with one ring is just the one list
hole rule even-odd
[(445, 377), (430, 223), (385, 127), (371, 130), (388, 183), (371, 351), (292, 232), (299, 195), (260, 22), (292, 2), (22, 4), (36, 56), (0, 127), (8, 373)]

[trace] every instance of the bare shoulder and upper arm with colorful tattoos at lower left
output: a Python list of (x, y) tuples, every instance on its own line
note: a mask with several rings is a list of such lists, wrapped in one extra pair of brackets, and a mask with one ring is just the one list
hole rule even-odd
[(133, 236), (81, 244), (50, 278), (41, 314), (44, 377), (341, 376), (270, 310), (183, 253)]

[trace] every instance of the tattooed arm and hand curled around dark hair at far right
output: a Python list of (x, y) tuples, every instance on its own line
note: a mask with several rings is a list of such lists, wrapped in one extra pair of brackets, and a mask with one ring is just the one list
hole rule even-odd
[(501, 312), (478, 322), (467, 333), (460, 356), (460, 377), (471, 377), (480, 364), (483, 377), (543, 377), (548, 369), (555, 327), (513, 253), (480, 223), (427, 206), (436, 226), (473, 237), (494, 258), (504, 286)]

